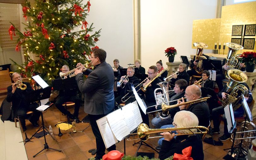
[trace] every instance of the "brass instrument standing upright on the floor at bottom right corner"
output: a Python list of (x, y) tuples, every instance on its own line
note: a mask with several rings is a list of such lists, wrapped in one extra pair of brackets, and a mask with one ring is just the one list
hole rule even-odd
[[(245, 126), (244, 126), (245, 124)], [(242, 141), (242, 148), (244, 150), (242, 150), (242, 153), (247, 155), (247, 151), (248, 149), (250, 149), (250, 146), (252, 144), (252, 140), (256, 136), (256, 126), (254, 123), (252, 122), (248, 122), (248, 121), (243, 121), (241, 123), (240, 126), (240, 130), (239, 132), (236, 132), (236, 137), (235, 137), (235, 141), (234, 141), (234, 148), (235, 149), (235, 153), (238, 152), (237, 148), (240, 145), (241, 140)], [(233, 142), (233, 138), (234, 138), (234, 134), (231, 134), (231, 141)], [(229, 151), (230, 154), (230, 151)]]

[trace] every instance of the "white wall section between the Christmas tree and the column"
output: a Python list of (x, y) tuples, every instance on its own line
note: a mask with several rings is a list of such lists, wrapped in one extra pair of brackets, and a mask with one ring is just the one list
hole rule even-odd
[(118, 59), (120, 66), (133, 64), (133, 1), (91, 0), (90, 4), (86, 21), (93, 23), (94, 31), (102, 28), (96, 45), (107, 52), (107, 63), (113, 66)]

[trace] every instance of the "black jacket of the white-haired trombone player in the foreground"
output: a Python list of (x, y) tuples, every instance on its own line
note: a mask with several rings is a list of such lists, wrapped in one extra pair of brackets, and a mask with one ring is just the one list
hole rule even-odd
[(174, 155), (174, 153), (182, 154), (182, 150), (192, 146), (191, 156), (195, 160), (203, 160), (203, 144), (201, 137), (198, 134), (188, 137), (187, 135), (177, 136), (171, 141), (163, 140), (159, 159), (166, 159)]

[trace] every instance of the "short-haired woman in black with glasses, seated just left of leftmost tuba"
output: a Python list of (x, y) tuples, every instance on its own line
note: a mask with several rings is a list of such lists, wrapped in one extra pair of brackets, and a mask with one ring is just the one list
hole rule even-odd
[(181, 63), (178, 67), (178, 70), (179, 70), (179, 74), (176, 75), (172, 75), (172, 79), (171, 79), (171, 84), (174, 85), (175, 84), (175, 81), (179, 80), (179, 79), (185, 79), (187, 81), (187, 83), (189, 84), (189, 74), (187, 73), (186, 71), (186, 67), (187, 65), (184, 64), (184, 63)]

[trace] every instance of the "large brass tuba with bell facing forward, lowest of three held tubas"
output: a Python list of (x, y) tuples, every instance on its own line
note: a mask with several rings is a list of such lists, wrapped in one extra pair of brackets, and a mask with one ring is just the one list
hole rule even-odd
[(226, 96), (226, 99), (222, 99), (222, 106), (227, 106), (232, 103), (233, 110), (236, 111), (241, 104), (239, 101), (241, 100), (241, 95), (238, 95), (238, 92), (240, 91), (241, 94), (248, 96), (249, 91), (246, 86), (239, 84), (239, 83), (244, 83), (247, 81), (247, 75), (238, 70), (238, 69), (230, 69), (227, 72), (228, 77), (230, 78), (229, 82), (227, 83), (227, 88), (226, 92), (230, 92)]

